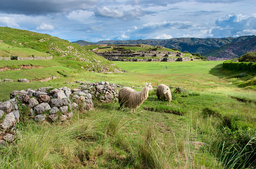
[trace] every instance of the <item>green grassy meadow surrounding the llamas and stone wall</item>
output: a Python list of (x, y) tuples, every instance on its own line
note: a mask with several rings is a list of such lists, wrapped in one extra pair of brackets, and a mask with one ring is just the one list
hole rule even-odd
[[(36, 123), (24, 118), (18, 124), (22, 138), (0, 147), (0, 165), (3, 168), (255, 167), (256, 91), (253, 86), (240, 85), (255, 74), (244, 72), (246, 78), (239, 77), (241, 72), (222, 70), (222, 62), (114, 61), (126, 72), (96, 73), (66, 68), (63, 73), (67, 76), (48, 82), (1, 82), (5, 94), (15, 88), (75, 88), (79, 84), (65, 82), (76, 80), (140, 85), (138, 91), (146, 82), (154, 86), (164, 83), (170, 86), (173, 100), (158, 100), (153, 90), (135, 113), (119, 108), (117, 102), (94, 100), (94, 110), (78, 107), (67, 123)], [(5, 76), (15, 77), (20, 71), (23, 72), (20, 78), (37, 74), (27, 69), (7, 70), (0, 72), (0, 78), (3, 81)], [(175, 87), (186, 91), (175, 93)], [(2, 94), (0, 99), (6, 100), (8, 96)]]

